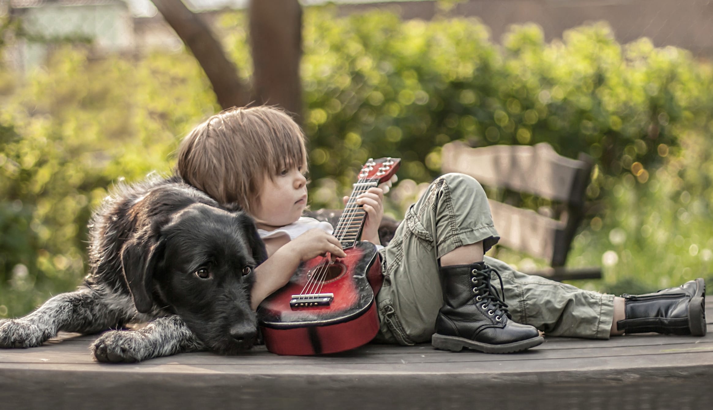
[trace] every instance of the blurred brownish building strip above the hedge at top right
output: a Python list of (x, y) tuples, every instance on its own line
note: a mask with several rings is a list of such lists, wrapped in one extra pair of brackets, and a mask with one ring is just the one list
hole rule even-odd
[[(325, 0), (302, 0), (303, 4)], [(395, 9), (403, 19), (432, 19), (439, 10), (433, 0), (332, 0), (342, 14), (375, 7)], [(655, 46), (677, 46), (693, 54), (713, 56), (713, 1), (710, 0), (461, 0), (446, 15), (476, 16), (499, 42), (512, 24), (534, 22), (545, 40), (562, 38), (563, 31), (594, 21), (607, 21), (617, 41), (648, 37)], [(442, 5), (443, 3), (441, 3)], [(448, 4), (446, 2), (445, 4)], [(398, 7), (394, 7), (398, 5)]]

